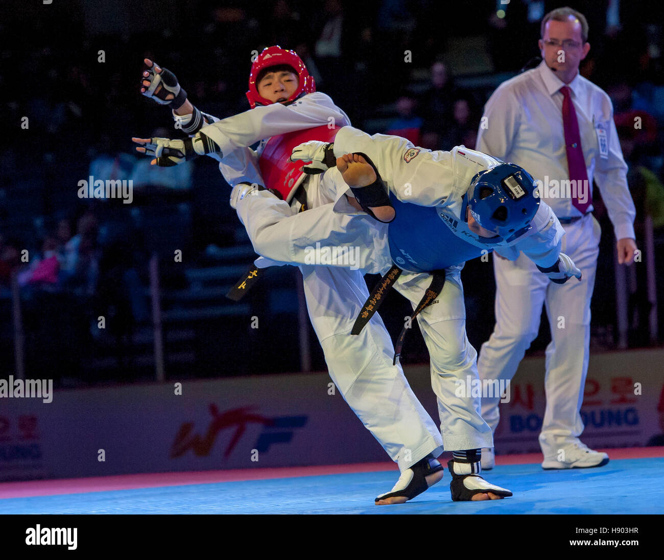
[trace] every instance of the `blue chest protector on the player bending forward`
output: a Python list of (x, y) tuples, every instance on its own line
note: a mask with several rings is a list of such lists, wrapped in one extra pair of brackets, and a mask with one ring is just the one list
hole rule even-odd
[(392, 193), (390, 202), (396, 213), (388, 226), (390, 256), (404, 270), (441, 270), (475, 259), (483, 250), (493, 251), (461, 239), (443, 223), (437, 208), (401, 202)]

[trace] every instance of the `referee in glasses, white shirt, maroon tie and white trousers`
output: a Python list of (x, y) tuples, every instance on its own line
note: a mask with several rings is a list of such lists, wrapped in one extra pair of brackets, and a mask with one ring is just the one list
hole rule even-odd
[[(634, 259), (634, 204), (609, 96), (580, 76), (588, 55), (588, 22), (569, 7), (544, 16), (542, 63), (503, 82), (484, 108), (477, 150), (523, 166), (538, 181), (540, 196), (565, 229), (562, 251), (582, 271), (581, 282), (552, 283), (521, 253), (500, 251), (496, 325), (477, 361), (482, 379), (511, 380), (539, 332), (546, 305), (552, 341), (546, 347), (546, 412), (539, 436), (544, 469), (600, 467), (606, 453), (579, 439), (590, 345), (590, 298), (599, 253), (600, 224), (592, 215), (592, 184), (602, 192), (618, 239), (618, 261)], [(541, 182), (541, 183), (540, 183)], [(507, 258), (505, 258), (507, 257)], [(498, 398), (482, 398), (482, 416), (493, 432)], [(482, 450), (482, 468), (495, 464)]]

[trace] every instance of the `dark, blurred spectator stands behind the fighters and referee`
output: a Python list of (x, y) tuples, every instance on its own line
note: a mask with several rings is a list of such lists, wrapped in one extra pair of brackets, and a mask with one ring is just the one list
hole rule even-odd
[[(279, 44), (299, 53), (318, 89), (355, 126), (434, 150), (474, 147), (483, 104), (500, 82), (539, 55), (542, 15), (565, 4), (3, 3), (2, 373), (15, 372), (15, 343), (22, 341), (28, 377), (52, 377), (60, 386), (153, 378), (151, 266), (158, 271), (167, 378), (325, 368), (313, 330), (299, 329), (297, 269), (269, 269), (238, 303), (224, 297), (254, 253), (228, 206), (230, 188), (215, 162), (199, 158), (155, 170), (133, 150), (131, 136), (181, 136), (169, 110), (139, 94), (143, 58), (175, 72), (193, 103), (223, 118), (248, 109), (244, 92), (254, 51)], [(637, 206), (637, 244), (643, 246), (648, 214), (661, 257), (664, 4), (598, 0), (572, 7), (590, 24), (592, 48), (581, 72), (614, 102)], [(642, 118), (639, 130), (634, 116)], [(78, 182), (90, 175), (133, 180), (133, 202), (78, 198)], [(595, 192), (604, 231), (592, 306), (597, 351), (614, 349), (618, 333), (613, 230)], [(660, 263), (656, 258), (657, 269)], [(647, 330), (645, 266), (633, 268), (627, 343), (658, 344)], [(367, 281), (371, 287), (376, 277)], [(479, 349), (494, 324), (491, 262), (467, 263), (463, 281), (469, 339)], [(20, 323), (12, 289), (19, 293)], [(392, 294), (381, 315), (396, 336), (410, 311)], [(530, 352), (548, 342), (544, 317), (542, 325)], [(307, 338), (308, 354), (301, 351)], [(428, 361), (418, 333), (408, 337), (402, 360)]]

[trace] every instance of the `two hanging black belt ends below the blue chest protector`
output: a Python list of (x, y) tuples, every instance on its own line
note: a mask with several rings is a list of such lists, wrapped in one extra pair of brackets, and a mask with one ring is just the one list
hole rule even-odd
[[(359, 335), (364, 326), (367, 325), (367, 323), (369, 323), (371, 317), (373, 317), (374, 313), (378, 311), (378, 307), (380, 307), (380, 304), (382, 303), (388, 290), (396, 282), (396, 279), (398, 279), (401, 273), (402, 269), (400, 269), (396, 265), (392, 265), (392, 268), (390, 268), (387, 271), (387, 273), (380, 279), (380, 282), (378, 282), (374, 286), (374, 289), (371, 291), (371, 294), (369, 295), (369, 299), (365, 301), (365, 304), (362, 306), (363, 307), (362, 311), (357, 316), (357, 319), (355, 319), (355, 325), (353, 325), (353, 330), (351, 331), (351, 335)], [(428, 305), (431, 305), (436, 300), (436, 298), (442, 291), (443, 286), (445, 285), (444, 270), (434, 270), (432, 271), (431, 274), (432, 274), (431, 284), (424, 292), (422, 299), (420, 299), (420, 303), (418, 303), (412, 315), (410, 315), (410, 321), (408, 321), (408, 323), (404, 325), (404, 328), (401, 329), (401, 333), (399, 334), (398, 339), (396, 339), (396, 344), (394, 345), (394, 358), (392, 359), (392, 365), (396, 365), (396, 358), (398, 358), (401, 355), (401, 350), (404, 346), (404, 341), (406, 340), (406, 333), (408, 333), (410, 325), (412, 325), (412, 322), (419, 315), (422, 309), (424, 309)]]

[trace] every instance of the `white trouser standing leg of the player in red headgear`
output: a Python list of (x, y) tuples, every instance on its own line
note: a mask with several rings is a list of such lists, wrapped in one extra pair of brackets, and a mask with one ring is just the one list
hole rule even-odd
[(376, 314), (351, 335), (369, 291), (360, 271), (299, 267), (309, 318), (339, 392), (400, 470), (442, 452), (438, 428), (404, 376), (392, 365), (394, 348)]

